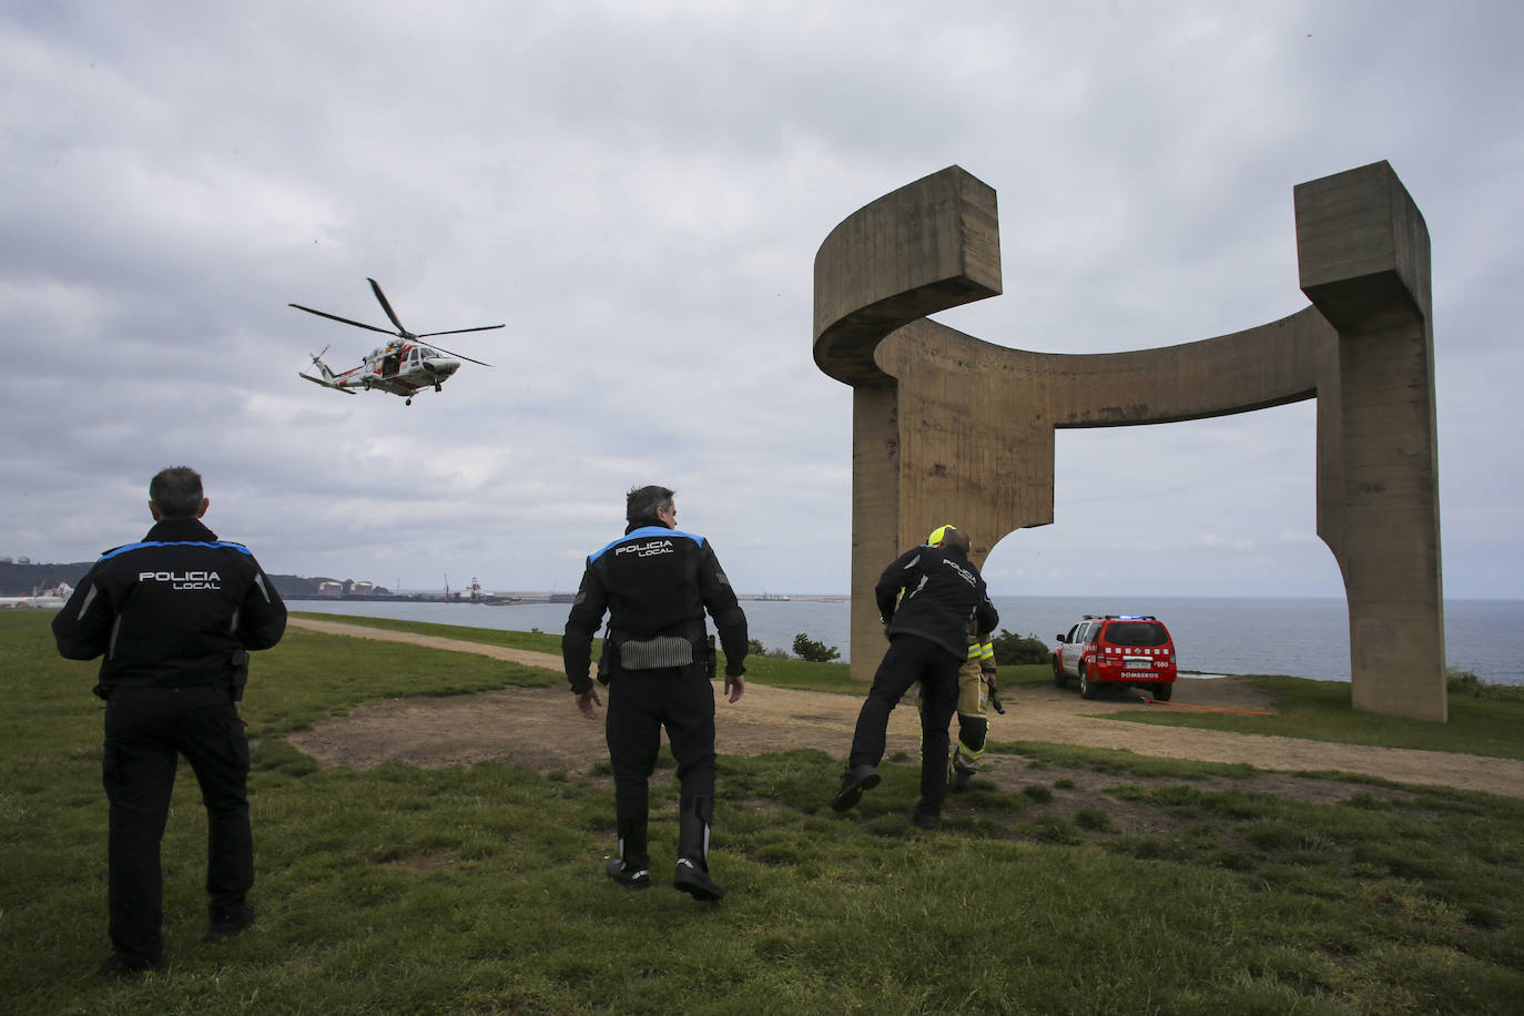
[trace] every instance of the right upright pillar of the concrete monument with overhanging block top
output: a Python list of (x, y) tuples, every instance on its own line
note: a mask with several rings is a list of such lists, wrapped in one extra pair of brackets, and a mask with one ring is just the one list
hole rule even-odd
[(1295, 189), (1301, 291), (1338, 329), (1340, 519), (1358, 710), (1445, 722), (1430, 242), (1387, 163)]

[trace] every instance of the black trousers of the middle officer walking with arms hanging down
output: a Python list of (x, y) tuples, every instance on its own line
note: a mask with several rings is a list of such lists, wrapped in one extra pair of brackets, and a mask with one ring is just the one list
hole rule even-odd
[(608, 684), (604, 734), (620, 818), (643, 816), (651, 806), (648, 780), (663, 728), (683, 797), (715, 797), (715, 685), (704, 667), (619, 670)]

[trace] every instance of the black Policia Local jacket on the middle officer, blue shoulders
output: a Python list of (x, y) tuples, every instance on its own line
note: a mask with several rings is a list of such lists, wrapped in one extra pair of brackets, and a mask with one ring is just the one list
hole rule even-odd
[(587, 672), (593, 635), (605, 611), (616, 646), (657, 635), (703, 643), (707, 611), (725, 650), (725, 673), (745, 673), (747, 615), (719, 568), (715, 548), (703, 536), (632, 524), (620, 539), (588, 556), (561, 640), (561, 661), (578, 695), (593, 687)]

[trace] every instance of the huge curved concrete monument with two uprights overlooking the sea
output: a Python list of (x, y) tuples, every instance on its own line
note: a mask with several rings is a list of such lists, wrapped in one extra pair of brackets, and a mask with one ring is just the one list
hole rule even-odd
[[(853, 390), (852, 641), (884, 562), (956, 519), (975, 561), (1053, 521), (1053, 433), (1318, 401), (1318, 536), (1344, 576), (1356, 708), (1445, 720), (1428, 233), (1385, 163), (1295, 187), (1314, 306), (1195, 343), (1035, 353), (927, 318), (998, 296), (995, 192), (957, 166), (815, 256), (817, 366)], [(983, 542), (988, 541), (988, 542)], [(855, 653), (853, 676), (873, 661)]]

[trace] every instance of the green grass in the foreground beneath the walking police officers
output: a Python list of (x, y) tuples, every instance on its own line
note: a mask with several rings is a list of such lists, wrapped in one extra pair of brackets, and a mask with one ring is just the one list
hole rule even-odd
[[(317, 771), (280, 740), (366, 701), (559, 675), (466, 653), (440, 667), (437, 652), (297, 631), (256, 655), (244, 704), (262, 736), (259, 923), (198, 941), (204, 820), (183, 771), (165, 838), (171, 969), (102, 984), (88, 976), (107, 947), (101, 704), (94, 666), (53, 655), (49, 618), (0, 612), (0, 1011), (1524, 1004), (1524, 801), (1372, 781), (1314, 804), (1256, 789), (1248, 766), (1021, 745), (1000, 765), (1024, 766), (1024, 791), (975, 778), (928, 835), (907, 821), (913, 760), (887, 763), (882, 786), (835, 815), (840, 759), (722, 757), (715, 876), (728, 896), (698, 905), (660, 877), (677, 839), (669, 777), (652, 789), (658, 888), (628, 893), (600, 873), (613, 798), (597, 754), (561, 774)], [(799, 679), (785, 664), (776, 678)]]

